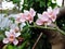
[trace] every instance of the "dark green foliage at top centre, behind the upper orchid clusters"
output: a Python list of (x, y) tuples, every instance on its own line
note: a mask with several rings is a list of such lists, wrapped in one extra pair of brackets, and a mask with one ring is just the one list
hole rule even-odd
[(42, 13), (48, 7), (54, 8), (55, 5), (56, 3), (52, 3), (52, 0), (24, 0), (23, 10), (34, 8), (38, 13)]

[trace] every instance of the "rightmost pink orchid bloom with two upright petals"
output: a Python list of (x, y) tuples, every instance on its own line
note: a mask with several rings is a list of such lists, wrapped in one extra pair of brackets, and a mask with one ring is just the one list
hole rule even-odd
[(58, 14), (58, 12), (60, 12), (60, 9), (58, 8), (55, 8), (55, 9), (52, 10), (52, 8), (50, 7), (48, 9), (49, 17), (50, 17), (50, 20), (52, 20), (52, 22), (55, 22), (56, 14)]

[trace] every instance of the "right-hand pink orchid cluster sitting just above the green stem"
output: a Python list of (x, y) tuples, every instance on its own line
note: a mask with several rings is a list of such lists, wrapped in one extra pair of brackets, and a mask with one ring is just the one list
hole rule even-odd
[(36, 22), (37, 25), (50, 25), (52, 22), (55, 22), (56, 14), (58, 13), (60, 9), (49, 8), (48, 11), (44, 11), (42, 14), (38, 13), (38, 20)]

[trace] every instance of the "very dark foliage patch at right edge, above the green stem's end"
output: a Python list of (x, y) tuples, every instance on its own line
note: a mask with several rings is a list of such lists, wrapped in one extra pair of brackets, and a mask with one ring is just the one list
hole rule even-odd
[(57, 26), (65, 32), (65, 16), (62, 14), (60, 19), (56, 20)]

